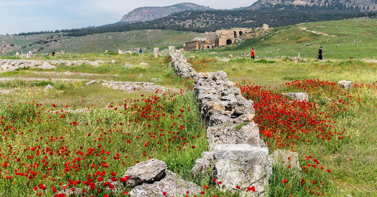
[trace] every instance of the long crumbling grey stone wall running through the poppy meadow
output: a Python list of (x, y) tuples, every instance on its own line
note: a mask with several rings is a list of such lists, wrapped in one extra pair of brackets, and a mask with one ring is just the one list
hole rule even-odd
[(192, 173), (212, 169), (221, 181), (218, 189), (264, 196), (272, 160), (260, 139), (259, 126), (253, 122), (254, 102), (241, 95), (224, 71), (197, 73), (181, 51), (172, 50), (169, 56), (178, 76), (194, 79), (202, 121), (208, 125), (210, 152), (203, 152), (195, 161)]

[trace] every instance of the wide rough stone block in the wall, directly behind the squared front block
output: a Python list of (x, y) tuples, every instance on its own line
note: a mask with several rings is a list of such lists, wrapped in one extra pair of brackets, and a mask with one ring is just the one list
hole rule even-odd
[(209, 149), (213, 150), (219, 144), (248, 144), (265, 147), (265, 143), (260, 138), (259, 126), (257, 124), (250, 122), (241, 128), (239, 127), (240, 125), (237, 124), (208, 127), (207, 139)]

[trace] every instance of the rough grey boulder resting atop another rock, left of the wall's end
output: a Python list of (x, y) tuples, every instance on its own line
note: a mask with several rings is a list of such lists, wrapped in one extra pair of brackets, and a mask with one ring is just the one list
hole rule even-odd
[(129, 176), (126, 184), (131, 186), (138, 186), (143, 183), (153, 183), (161, 180), (166, 167), (167, 165), (165, 162), (158, 159), (150, 159), (127, 168), (123, 177)]

